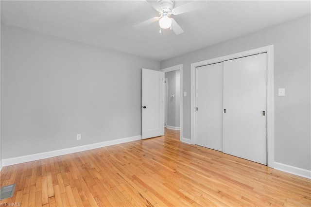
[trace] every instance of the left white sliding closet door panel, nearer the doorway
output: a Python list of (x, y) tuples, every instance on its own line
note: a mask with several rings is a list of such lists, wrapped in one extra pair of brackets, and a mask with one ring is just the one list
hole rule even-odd
[(223, 63), (196, 68), (196, 144), (223, 150)]

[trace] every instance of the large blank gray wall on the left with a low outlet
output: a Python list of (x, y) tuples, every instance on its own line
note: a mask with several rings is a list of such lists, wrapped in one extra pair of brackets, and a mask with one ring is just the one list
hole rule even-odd
[(141, 68), (159, 62), (1, 29), (2, 159), (141, 135)]

